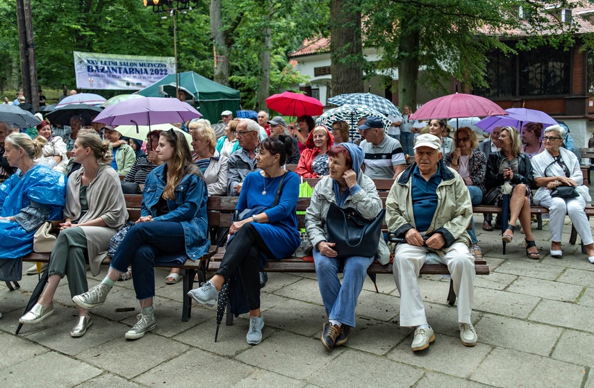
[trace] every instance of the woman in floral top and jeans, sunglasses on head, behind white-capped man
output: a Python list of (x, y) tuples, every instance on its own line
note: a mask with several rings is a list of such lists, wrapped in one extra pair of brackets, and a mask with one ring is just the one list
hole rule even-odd
[[(484, 153), (477, 150), (477, 146), (479, 146), (477, 133), (468, 127), (459, 128), (454, 132), (454, 146), (456, 147), (454, 152), (445, 155), (445, 165), (458, 171), (470, 192), (472, 205), (480, 205), (483, 201), (487, 158)], [(477, 239), (474, 217), (470, 222), (472, 230), (468, 231), (468, 235), (472, 242), (472, 254), (479, 258), (482, 253)]]

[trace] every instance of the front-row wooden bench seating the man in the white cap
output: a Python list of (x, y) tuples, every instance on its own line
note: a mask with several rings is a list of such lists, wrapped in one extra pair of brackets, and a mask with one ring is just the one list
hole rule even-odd
[[(391, 187), (391, 186), (390, 186)], [(226, 206), (231, 205), (231, 200), (237, 198), (227, 197), (226, 201), (229, 203)], [(299, 198), (297, 202), (297, 212), (305, 211), (309, 207), (311, 199), (310, 198)], [(385, 208), (386, 199), (382, 199), (383, 206)], [(305, 228), (305, 215), (304, 214), (297, 214), (297, 228)], [(386, 223), (383, 223), (383, 229), (387, 230)], [(215, 255), (211, 258), (207, 259), (206, 267), (208, 272), (217, 271), (220, 267), (221, 260), (224, 256), (225, 249), (220, 248)], [(392, 273), (393, 264), (390, 262), (386, 265), (381, 265), (379, 262), (374, 261), (371, 266), (368, 268), (368, 273), (370, 274), (377, 274), (377, 273)], [(284, 258), (282, 260), (271, 260), (267, 262), (264, 267), (264, 271), (266, 272), (285, 272), (285, 273), (315, 273), (315, 264), (313, 262), (307, 262), (302, 258)], [(340, 270), (342, 271), (342, 270)], [(488, 275), (489, 274), (489, 267), (486, 261), (483, 258), (476, 258), (475, 259), (475, 271), (477, 275)], [(449, 271), (445, 264), (424, 264), (420, 270), (421, 275), (449, 275)], [(377, 288), (376, 288), (377, 290)], [(454, 284), (450, 280), (449, 282), (449, 292), (447, 294), (447, 303), (449, 305), (454, 305), (456, 301), (456, 294), (454, 293)], [(233, 314), (229, 312), (229, 305), (227, 306), (227, 314), (226, 314), (226, 324), (231, 325), (233, 323)]]

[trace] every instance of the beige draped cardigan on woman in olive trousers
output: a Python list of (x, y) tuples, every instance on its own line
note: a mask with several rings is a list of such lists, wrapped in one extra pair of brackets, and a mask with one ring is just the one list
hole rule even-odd
[(83, 223), (101, 217), (107, 226), (81, 226), (87, 237), (87, 250), (92, 276), (99, 275), (101, 262), (107, 254), (109, 240), (128, 219), (126, 201), (119, 185), (119, 176), (110, 165), (99, 165), (97, 174), (87, 189), (88, 212), (81, 218), (81, 176), (84, 167), (68, 178), (64, 217)]

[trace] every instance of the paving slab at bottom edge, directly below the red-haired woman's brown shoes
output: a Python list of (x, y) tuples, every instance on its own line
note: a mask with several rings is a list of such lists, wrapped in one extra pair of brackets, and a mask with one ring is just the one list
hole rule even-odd
[[(361, 368), (361, 365), (372, 366)], [(411, 387), (423, 375), (422, 369), (368, 353), (345, 351), (308, 378), (320, 387)], [(398, 376), (398, 378), (387, 378)], [(339, 383), (340, 382), (340, 383)]]

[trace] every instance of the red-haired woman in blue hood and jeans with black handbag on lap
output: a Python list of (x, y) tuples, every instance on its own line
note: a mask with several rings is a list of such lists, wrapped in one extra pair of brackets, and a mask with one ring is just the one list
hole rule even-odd
[[(368, 267), (375, 258), (381, 264), (388, 264), (390, 260), (388, 246), (380, 238), (383, 221), (381, 199), (373, 180), (361, 171), (363, 156), (363, 149), (355, 144), (343, 143), (331, 147), (330, 176), (315, 185), (305, 216), (307, 233), (314, 247), (317, 283), (329, 319), (324, 323), (320, 338), (328, 351), (334, 346), (345, 344), (351, 328), (355, 326), (355, 307)], [(375, 229), (372, 235), (365, 237), (372, 240), (371, 249), (361, 246), (349, 249), (352, 245), (349, 246), (348, 242), (342, 244), (338, 241), (340, 237), (330, 236), (329, 229), (334, 227), (333, 224), (345, 219), (328, 215), (336, 212), (337, 205), (350, 217), (362, 216), (370, 223), (374, 220), (379, 222), (379, 230)], [(348, 228), (348, 225), (338, 225), (338, 228), (341, 227)], [(345, 252), (347, 250), (352, 252)], [(343, 264), (341, 285), (338, 269)]]

